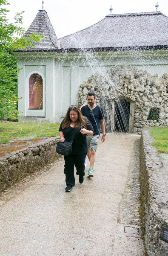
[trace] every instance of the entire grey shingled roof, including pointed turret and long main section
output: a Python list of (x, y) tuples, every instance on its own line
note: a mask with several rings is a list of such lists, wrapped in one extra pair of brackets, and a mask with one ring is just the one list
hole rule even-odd
[(39, 10), (25, 36), (44, 35), (36, 47), (20, 51), (78, 51), (80, 49), (168, 49), (168, 17), (162, 12), (111, 14), (98, 23), (57, 40), (45, 10)]

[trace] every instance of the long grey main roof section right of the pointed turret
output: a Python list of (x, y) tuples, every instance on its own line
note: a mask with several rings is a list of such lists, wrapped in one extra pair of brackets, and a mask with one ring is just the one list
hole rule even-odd
[(161, 12), (107, 15), (60, 38), (61, 49), (168, 46), (168, 17)]

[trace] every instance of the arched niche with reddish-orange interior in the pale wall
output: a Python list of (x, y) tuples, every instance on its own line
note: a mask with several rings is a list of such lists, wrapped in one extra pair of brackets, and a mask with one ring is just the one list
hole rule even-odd
[(43, 78), (34, 73), (30, 76), (29, 81), (29, 108), (43, 109)]

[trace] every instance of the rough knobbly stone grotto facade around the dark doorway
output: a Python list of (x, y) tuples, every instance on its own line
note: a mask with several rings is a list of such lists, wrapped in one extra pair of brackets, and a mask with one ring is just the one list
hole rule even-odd
[(168, 74), (158, 77), (137, 67), (112, 67), (80, 85), (79, 105), (86, 102), (88, 91), (97, 93), (97, 104), (111, 102), (112, 112), (121, 99), (130, 102), (129, 132), (140, 134), (143, 127), (168, 126)]

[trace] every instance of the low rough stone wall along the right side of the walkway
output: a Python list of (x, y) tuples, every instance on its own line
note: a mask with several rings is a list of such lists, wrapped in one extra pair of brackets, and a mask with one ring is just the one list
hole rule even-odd
[(168, 228), (168, 169), (151, 146), (149, 129), (144, 128), (140, 145), (142, 229), (148, 256), (168, 256), (168, 243), (161, 239)]

